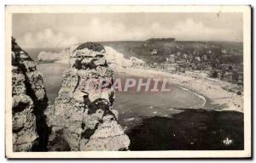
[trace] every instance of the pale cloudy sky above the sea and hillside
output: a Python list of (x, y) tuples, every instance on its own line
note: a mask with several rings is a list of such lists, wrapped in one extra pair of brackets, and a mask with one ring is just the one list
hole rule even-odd
[(12, 36), (23, 48), (65, 48), (80, 42), (183, 41), (242, 42), (242, 14), (108, 13), (13, 14)]

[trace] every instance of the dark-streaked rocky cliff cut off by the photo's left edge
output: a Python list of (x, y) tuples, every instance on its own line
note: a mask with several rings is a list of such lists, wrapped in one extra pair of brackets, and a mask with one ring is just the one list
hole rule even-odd
[(15, 152), (45, 150), (48, 104), (44, 82), (35, 63), (12, 38), (12, 124)]

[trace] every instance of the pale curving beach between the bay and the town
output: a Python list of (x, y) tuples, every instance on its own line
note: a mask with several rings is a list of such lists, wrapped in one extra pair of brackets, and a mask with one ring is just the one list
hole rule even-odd
[[(192, 72), (191, 74), (170, 74), (159, 70), (145, 70), (135, 68), (118, 68), (119, 73), (132, 76), (166, 78), (167, 82), (195, 93), (205, 100), (201, 109), (204, 110), (234, 110), (243, 113), (243, 95), (228, 92), (223, 87), (234, 87), (231, 83), (209, 80), (207, 76)], [(191, 76), (192, 75), (192, 76)], [(196, 77), (194, 77), (196, 76)]]

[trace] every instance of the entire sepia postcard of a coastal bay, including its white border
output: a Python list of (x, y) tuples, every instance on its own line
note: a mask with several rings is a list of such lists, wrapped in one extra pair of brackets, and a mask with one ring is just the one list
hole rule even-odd
[(250, 158), (250, 6), (6, 6), (8, 158)]

